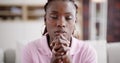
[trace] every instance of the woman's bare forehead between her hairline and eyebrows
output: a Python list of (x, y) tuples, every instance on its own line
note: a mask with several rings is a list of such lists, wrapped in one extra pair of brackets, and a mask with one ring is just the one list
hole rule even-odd
[(47, 7), (47, 12), (75, 13), (76, 8), (70, 1), (52, 1)]

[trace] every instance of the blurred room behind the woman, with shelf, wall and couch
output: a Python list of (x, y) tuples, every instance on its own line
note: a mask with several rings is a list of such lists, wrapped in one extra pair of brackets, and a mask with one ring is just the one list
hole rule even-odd
[[(0, 63), (21, 63), (21, 49), (44, 31), (47, 0), (0, 0)], [(98, 63), (120, 63), (120, 0), (76, 0), (75, 37), (91, 44)]]

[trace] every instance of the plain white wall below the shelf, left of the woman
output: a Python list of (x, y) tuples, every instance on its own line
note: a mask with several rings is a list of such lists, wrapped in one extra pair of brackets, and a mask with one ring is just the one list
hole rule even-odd
[(0, 22), (0, 48), (16, 48), (16, 42), (33, 40), (41, 37), (43, 21), (35, 22)]

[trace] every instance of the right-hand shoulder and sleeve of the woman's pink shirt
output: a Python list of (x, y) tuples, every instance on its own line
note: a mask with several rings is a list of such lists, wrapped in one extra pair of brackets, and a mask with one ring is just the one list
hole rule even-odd
[(97, 63), (96, 50), (87, 42), (74, 39), (74, 51), (76, 51), (75, 56), (83, 63)]

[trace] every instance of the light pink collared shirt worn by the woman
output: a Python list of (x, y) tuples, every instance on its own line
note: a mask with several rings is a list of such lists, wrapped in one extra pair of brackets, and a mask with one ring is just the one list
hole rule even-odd
[[(96, 51), (85, 42), (72, 38), (70, 48), (72, 63), (97, 63)], [(22, 63), (50, 63), (51, 58), (46, 36), (29, 43), (22, 51)]]

